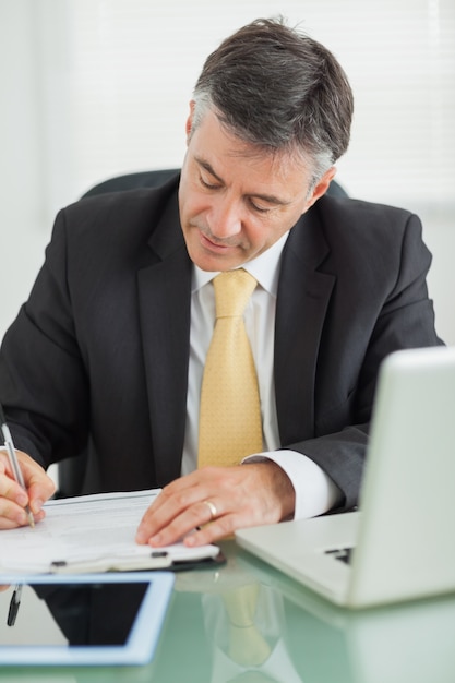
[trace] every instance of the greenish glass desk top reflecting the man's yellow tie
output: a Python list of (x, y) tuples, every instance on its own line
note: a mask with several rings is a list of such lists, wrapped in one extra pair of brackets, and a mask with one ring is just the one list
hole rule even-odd
[(455, 681), (455, 596), (349, 612), (221, 547), (225, 566), (177, 574), (148, 666), (0, 668), (1, 683)]

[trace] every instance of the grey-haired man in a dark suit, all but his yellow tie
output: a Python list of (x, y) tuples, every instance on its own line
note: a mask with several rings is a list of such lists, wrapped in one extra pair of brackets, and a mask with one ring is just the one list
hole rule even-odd
[[(253, 22), (203, 68), (179, 185), (59, 214), (2, 346), (0, 399), (27, 489), (0, 454), (2, 528), (26, 524), (27, 503), (39, 522), (53, 490), (43, 467), (84, 451), (83, 492), (165, 487), (140, 543), (195, 528), (185, 542), (206, 543), (356, 505), (382, 359), (440, 340), (419, 219), (323, 196), (351, 115), (324, 47)], [(263, 448), (197, 469), (212, 280), (239, 266), (259, 283), (244, 317)]]

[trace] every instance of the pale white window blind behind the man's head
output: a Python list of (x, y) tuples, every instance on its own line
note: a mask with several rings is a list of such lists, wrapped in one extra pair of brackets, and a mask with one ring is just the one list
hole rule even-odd
[[(412, 208), (455, 204), (453, 0), (47, 0), (40, 8), (52, 209), (107, 177), (180, 166), (203, 60), (242, 24), (278, 13), (324, 43), (351, 82), (352, 139), (338, 164), (348, 192)], [(64, 40), (52, 45), (56, 16)]]

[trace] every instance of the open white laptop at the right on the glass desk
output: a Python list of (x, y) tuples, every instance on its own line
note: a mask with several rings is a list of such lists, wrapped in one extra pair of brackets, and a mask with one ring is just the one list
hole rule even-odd
[(366, 608), (455, 590), (455, 347), (382, 363), (359, 511), (236, 531), (332, 602)]

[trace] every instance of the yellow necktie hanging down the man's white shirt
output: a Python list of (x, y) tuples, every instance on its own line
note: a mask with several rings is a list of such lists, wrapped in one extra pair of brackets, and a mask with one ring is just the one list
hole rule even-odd
[(216, 324), (202, 381), (199, 467), (238, 465), (262, 451), (258, 376), (243, 323), (258, 283), (240, 268), (217, 275), (213, 284)]

